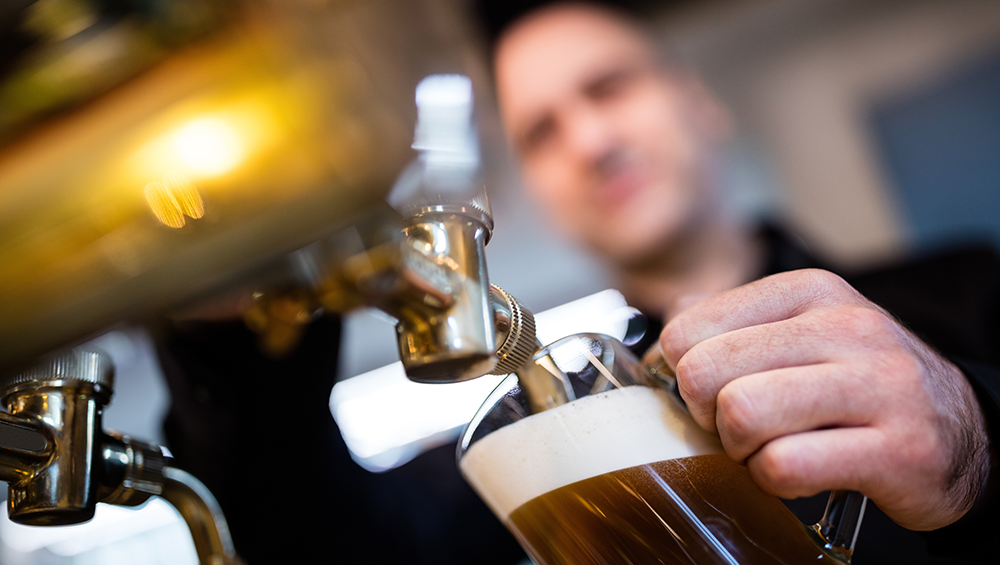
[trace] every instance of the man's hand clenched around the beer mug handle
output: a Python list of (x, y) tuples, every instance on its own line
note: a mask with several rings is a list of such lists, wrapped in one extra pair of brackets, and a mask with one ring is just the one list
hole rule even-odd
[(785, 498), (849, 489), (931, 530), (989, 469), (961, 371), (826, 271), (782, 273), (678, 314), (660, 336), (694, 419)]

